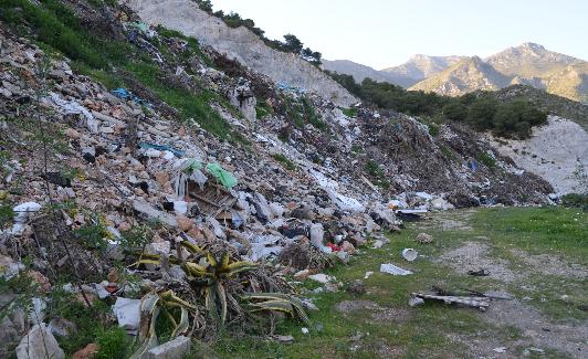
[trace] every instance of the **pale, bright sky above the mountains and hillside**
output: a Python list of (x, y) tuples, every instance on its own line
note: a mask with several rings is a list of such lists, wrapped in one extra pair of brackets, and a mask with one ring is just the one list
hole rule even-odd
[(588, 0), (212, 0), (327, 60), (377, 70), (413, 54), (479, 55), (535, 42), (588, 60)]

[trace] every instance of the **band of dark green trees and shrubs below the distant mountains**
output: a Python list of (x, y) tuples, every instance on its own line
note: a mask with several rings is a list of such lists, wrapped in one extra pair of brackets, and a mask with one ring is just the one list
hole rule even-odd
[[(492, 130), (496, 136), (528, 138), (533, 126), (547, 122), (547, 114), (526, 99), (501, 103), (490, 92), (449, 97), (422, 91), (406, 91), (370, 78), (357, 84), (349, 75), (329, 74), (354, 95), (381, 108), (413, 116), (464, 122), (480, 131)], [(435, 136), (434, 129), (431, 136)]]

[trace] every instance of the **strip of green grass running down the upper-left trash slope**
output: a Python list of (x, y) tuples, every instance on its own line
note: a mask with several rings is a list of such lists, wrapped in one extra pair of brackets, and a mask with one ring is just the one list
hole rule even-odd
[[(195, 120), (203, 129), (221, 138), (242, 138), (209, 105), (211, 102), (225, 105), (219, 95), (206, 89), (195, 93), (175, 86), (166, 80), (158, 64), (147, 53), (125, 41), (104, 39), (91, 33), (66, 4), (55, 0), (43, 0), (41, 6), (27, 0), (7, 0), (0, 2), (0, 20), (24, 36), (31, 35), (30, 27), (34, 31), (35, 41), (72, 59), (75, 70), (103, 82), (108, 88), (128, 85), (127, 78), (115, 71), (115, 67), (123, 68), (130, 76), (128, 80), (138, 81), (161, 101), (177, 108), (180, 119)], [(162, 28), (158, 31), (161, 31), (164, 38), (180, 35)], [(195, 39), (183, 35), (180, 38), (188, 42), (186, 56), (203, 57)], [(162, 54), (169, 52), (165, 43), (158, 45)]]

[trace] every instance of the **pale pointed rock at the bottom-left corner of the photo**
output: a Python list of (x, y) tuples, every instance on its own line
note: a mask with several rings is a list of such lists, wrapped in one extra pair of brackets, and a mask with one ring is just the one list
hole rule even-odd
[(18, 359), (63, 359), (65, 353), (60, 348), (53, 334), (45, 327), (44, 323), (32, 327), (22, 337), (17, 347)]

